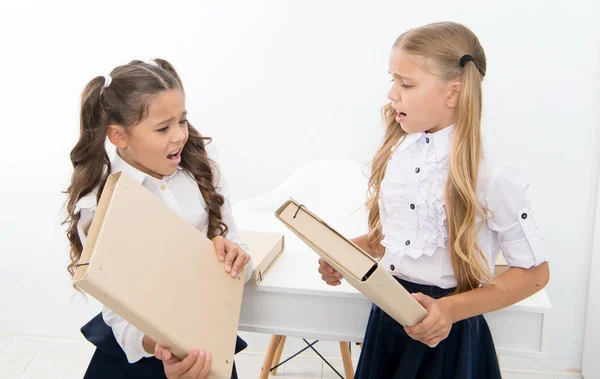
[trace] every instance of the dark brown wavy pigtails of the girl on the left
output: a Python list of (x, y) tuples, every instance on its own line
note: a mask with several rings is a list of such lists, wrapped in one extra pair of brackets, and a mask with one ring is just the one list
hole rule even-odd
[[(77, 231), (80, 214), (75, 205), (82, 197), (97, 191), (100, 199), (102, 189), (111, 172), (110, 160), (105, 150), (108, 125), (116, 124), (130, 128), (147, 117), (153, 98), (166, 90), (181, 90), (183, 84), (173, 66), (163, 60), (154, 59), (156, 65), (132, 61), (112, 70), (112, 82), (104, 88), (103, 76), (93, 78), (84, 88), (81, 98), (79, 140), (71, 150), (73, 175), (67, 194), (67, 238), (70, 243), (71, 263), (67, 271), (73, 276), (81, 258), (83, 246)], [(208, 238), (227, 235), (227, 225), (222, 221), (221, 206), (224, 197), (214, 186), (218, 168), (208, 157), (203, 137), (188, 123), (189, 137), (181, 152), (180, 166), (198, 183), (208, 206)], [(84, 226), (87, 233), (89, 225)]]

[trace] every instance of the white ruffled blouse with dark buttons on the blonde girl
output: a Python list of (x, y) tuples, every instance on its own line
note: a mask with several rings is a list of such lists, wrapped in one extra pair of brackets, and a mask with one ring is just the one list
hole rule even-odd
[[(379, 198), (385, 247), (381, 264), (399, 278), (441, 288), (457, 284), (445, 204), (453, 132), (450, 126), (409, 134), (396, 144)], [(547, 261), (528, 187), (518, 169), (482, 159), (477, 195), (493, 218), (484, 223), (478, 242), (492, 272), (500, 251), (512, 267)]]

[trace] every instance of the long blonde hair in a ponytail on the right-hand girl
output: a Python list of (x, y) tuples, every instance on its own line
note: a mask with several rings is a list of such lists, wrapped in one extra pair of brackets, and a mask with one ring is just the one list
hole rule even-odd
[[(443, 80), (460, 80), (458, 106), (455, 110), (454, 137), (450, 151), (450, 167), (446, 182), (446, 208), (448, 215), (448, 241), (452, 267), (457, 279), (456, 292), (465, 292), (478, 287), (482, 281), (494, 282), (488, 262), (477, 243), (477, 235), (483, 223), (476, 222), (488, 218), (486, 210), (477, 198), (477, 178), (479, 172), (481, 146), (481, 83), (486, 73), (486, 57), (478, 38), (467, 27), (441, 22), (411, 29), (402, 34), (394, 43), (394, 48), (408, 54), (423, 57), (431, 65), (433, 74)], [(461, 67), (463, 55), (471, 55)], [(383, 143), (373, 160), (372, 175), (369, 180), (368, 243), (381, 253), (383, 238), (378, 199), (381, 181), (392, 155), (393, 146), (406, 136), (396, 121), (396, 112), (391, 103), (382, 109), (386, 124)]]

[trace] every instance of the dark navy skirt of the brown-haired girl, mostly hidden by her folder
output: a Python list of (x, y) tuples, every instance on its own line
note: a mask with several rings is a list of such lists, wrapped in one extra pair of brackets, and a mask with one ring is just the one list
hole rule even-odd
[[(96, 351), (87, 368), (83, 379), (166, 379), (161, 360), (154, 357), (142, 358), (135, 363), (129, 363), (125, 352), (117, 342), (110, 326), (102, 314), (98, 314), (81, 328), (85, 338), (96, 346)], [(248, 344), (237, 337), (235, 353), (244, 350)], [(238, 379), (233, 364), (231, 379)]]

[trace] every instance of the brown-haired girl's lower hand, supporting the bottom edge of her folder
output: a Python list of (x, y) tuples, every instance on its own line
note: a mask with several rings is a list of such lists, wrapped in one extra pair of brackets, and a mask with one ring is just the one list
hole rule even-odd
[(156, 344), (154, 356), (163, 362), (165, 375), (169, 379), (205, 379), (210, 371), (212, 357), (203, 350), (192, 350), (180, 361), (164, 347)]

